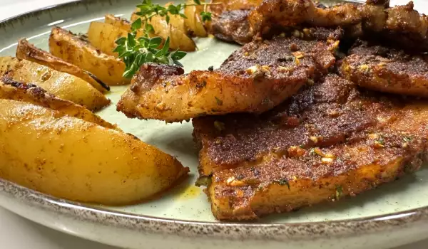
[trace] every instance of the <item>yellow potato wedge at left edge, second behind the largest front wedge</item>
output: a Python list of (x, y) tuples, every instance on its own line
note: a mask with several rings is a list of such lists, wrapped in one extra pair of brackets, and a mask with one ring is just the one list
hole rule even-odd
[(85, 80), (29, 60), (0, 57), (0, 75), (5, 73), (16, 81), (35, 84), (56, 97), (86, 106), (89, 110), (100, 110), (110, 103)]

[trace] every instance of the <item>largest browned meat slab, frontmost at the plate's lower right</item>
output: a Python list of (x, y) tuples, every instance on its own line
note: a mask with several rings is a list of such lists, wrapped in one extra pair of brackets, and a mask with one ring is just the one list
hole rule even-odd
[(200, 182), (220, 220), (353, 196), (419, 169), (427, 120), (427, 102), (329, 75), (259, 117), (194, 119)]

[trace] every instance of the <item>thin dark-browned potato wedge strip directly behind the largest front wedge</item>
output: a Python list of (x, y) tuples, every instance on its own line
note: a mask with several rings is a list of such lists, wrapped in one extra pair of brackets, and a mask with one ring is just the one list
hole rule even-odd
[(0, 80), (0, 99), (29, 102), (33, 105), (62, 112), (70, 117), (77, 117), (81, 120), (99, 124), (102, 127), (118, 129), (116, 125), (104, 121), (101, 117), (81, 105), (76, 105), (68, 100), (61, 100), (36, 85), (19, 83), (11, 78), (4, 77)]

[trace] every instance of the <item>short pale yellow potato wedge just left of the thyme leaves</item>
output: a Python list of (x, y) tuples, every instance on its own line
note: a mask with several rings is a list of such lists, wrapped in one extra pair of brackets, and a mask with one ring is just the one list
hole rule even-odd
[(113, 53), (113, 50), (117, 46), (115, 41), (118, 38), (126, 36), (128, 36), (128, 32), (122, 28), (108, 23), (100, 23), (98, 21), (91, 22), (88, 29), (88, 41), (91, 45), (98, 48), (103, 53), (116, 57), (118, 53)]

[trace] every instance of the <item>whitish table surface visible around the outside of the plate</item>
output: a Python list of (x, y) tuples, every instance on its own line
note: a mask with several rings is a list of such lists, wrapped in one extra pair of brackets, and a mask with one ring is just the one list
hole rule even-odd
[[(0, 21), (10, 16), (73, 0), (0, 0)], [(407, 0), (391, 0), (405, 4)], [(414, 0), (419, 11), (427, 11), (428, 1)], [(67, 235), (21, 218), (0, 208), (0, 248), (4, 249), (118, 249)], [(394, 249), (426, 249), (428, 240)]]

